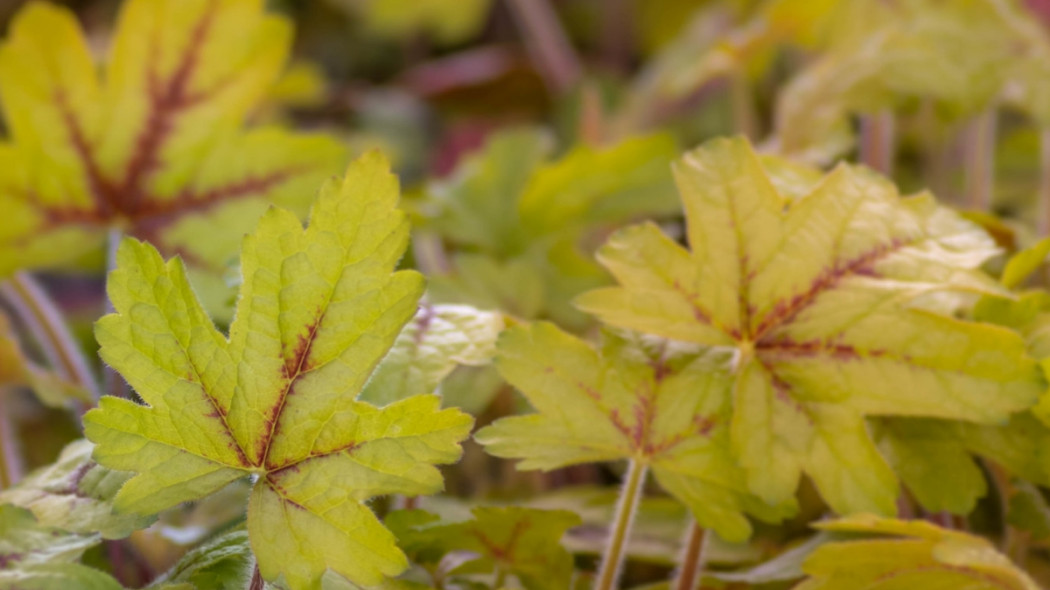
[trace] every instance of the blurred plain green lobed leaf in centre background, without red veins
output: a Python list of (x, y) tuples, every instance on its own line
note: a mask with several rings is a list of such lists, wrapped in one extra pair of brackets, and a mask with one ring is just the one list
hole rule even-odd
[(433, 281), (436, 300), (578, 325), (585, 318), (568, 301), (607, 281), (587, 236), (674, 209), (668, 136), (578, 146), (549, 163), (545, 140), (534, 130), (499, 133), (430, 187), (419, 205), (424, 225), (458, 249), (452, 273)]

